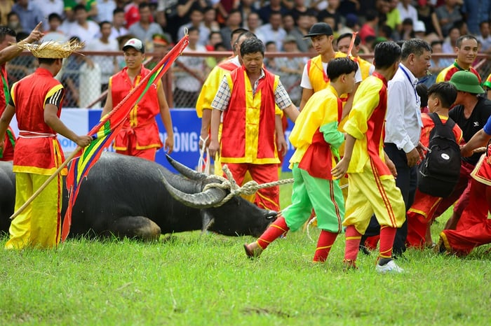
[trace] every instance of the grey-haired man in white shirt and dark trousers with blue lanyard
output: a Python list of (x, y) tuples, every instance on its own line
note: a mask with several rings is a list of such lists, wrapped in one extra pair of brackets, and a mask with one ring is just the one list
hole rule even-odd
[[(419, 143), (423, 124), (419, 108), (420, 99), (416, 92), (417, 78), (422, 78), (428, 73), (431, 53), (431, 46), (426, 41), (417, 38), (405, 41), (399, 69), (394, 78), (389, 80), (387, 89), (384, 150), (396, 165), (396, 185), (403, 194), (406, 211), (415, 199), (417, 164), (421, 160), (423, 150), (422, 144)], [(372, 218), (365, 236), (377, 234), (377, 224), (376, 219)], [(408, 226), (407, 222), (404, 222), (394, 239), (394, 255), (401, 256), (405, 251), (407, 234)]]

